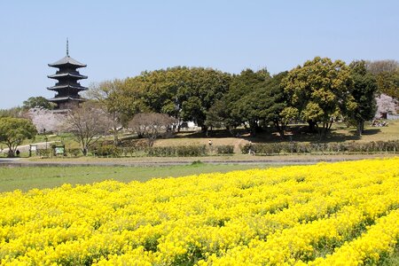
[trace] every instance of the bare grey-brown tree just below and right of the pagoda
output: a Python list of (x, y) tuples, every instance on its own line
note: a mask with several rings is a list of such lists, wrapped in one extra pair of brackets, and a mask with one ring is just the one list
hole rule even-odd
[(87, 155), (90, 146), (108, 133), (112, 121), (96, 103), (86, 102), (68, 111), (65, 126), (81, 145), (82, 153)]

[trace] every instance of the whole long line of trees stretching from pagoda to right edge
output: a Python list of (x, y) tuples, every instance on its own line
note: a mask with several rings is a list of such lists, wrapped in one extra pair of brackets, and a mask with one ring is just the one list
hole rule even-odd
[(145, 71), (124, 80), (90, 86), (88, 97), (127, 126), (137, 113), (166, 113), (176, 121), (194, 121), (204, 132), (244, 126), (255, 136), (273, 125), (284, 137), (291, 121), (306, 121), (320, 137), (338, 119), (364, 131), (376, 112), (375, 96), (398, 98), (395, 60), (353, 61), (316, 57), (291, 71), (267, 69), (229, 74), (212, 68), (176, 66)]

